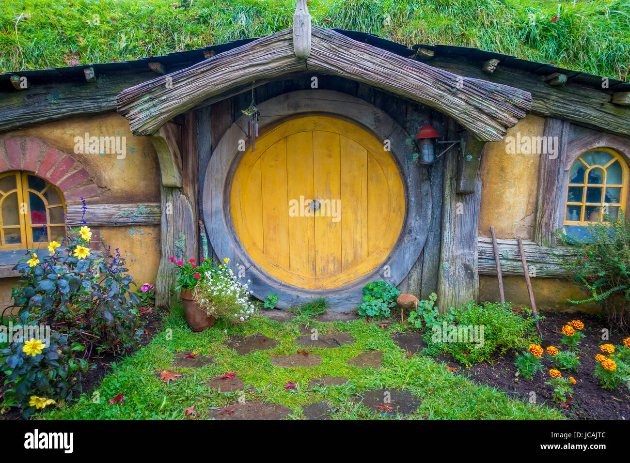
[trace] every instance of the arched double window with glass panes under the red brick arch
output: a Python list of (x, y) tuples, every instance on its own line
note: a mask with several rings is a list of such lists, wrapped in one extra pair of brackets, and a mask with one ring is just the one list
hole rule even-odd
[(65, 236), (64, 197), (25, 171), (0, 174), (0, 249), (30, 249)]

